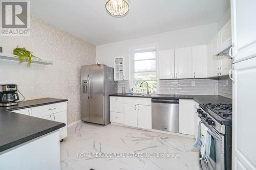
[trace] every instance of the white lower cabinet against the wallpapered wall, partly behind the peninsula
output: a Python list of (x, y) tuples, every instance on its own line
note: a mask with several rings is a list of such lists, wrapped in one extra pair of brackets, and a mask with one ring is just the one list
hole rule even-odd
[(27, 109), (13, 110), (12, 112), (26, 114), (33, 117), (65, 123), (66, 126), (59, 129), (59, 139), (68, 136), (67, 128), (67, 102), (37, 106)]

